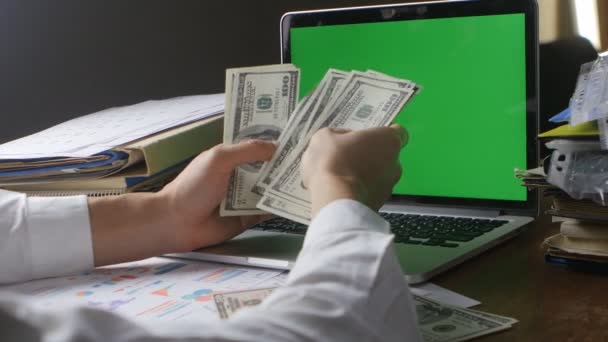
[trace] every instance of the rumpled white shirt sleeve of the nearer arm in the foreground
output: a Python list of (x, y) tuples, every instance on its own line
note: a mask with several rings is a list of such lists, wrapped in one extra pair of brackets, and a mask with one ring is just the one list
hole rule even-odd
[(10, 327), (4, 336), (24, 341), (420, 341), (388, 224), (350, 200), (331, 203), (313, 220), (285, 287), (227, 321), (143, 325), (8, 296), (0, 296), (0, 321)]

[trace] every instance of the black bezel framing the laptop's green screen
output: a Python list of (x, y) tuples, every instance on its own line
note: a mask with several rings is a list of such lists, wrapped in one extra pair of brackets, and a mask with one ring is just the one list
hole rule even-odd
[[(537, 140), (539, 101), (538, 5), (534, 0), (440, 1), (289, 12), (281, 18), (281, 60), (283, 63), (291, 62), (291, 28), (497, 14), (524, 14), (525, 16), (527, 167), (535, 167), (538, 165), (539, 153)], [(526, 201), (393, 195), (391, 202), (493, 209), (500, 210), (504, 214), (536, 215), (538, 213), (538, 194), (536, 191), (528, 191), (527, 195)]]

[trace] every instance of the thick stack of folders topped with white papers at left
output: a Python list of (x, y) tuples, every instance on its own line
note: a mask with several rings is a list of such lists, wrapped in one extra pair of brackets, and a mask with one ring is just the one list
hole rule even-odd
[(0, 189), (32, 196), (156, 191), (222, 141), (224, 96), (109, 108), (0, 145)]

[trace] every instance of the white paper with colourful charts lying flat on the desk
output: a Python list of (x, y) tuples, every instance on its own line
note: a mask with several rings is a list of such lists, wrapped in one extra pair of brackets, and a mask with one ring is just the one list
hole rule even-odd
[(196, 322), (218, 318), (214, 292), (280, 286), (285, 279), (276, 270), (151, 258), (0, 289), (52, 308), (84, 305), (138, 321)]

